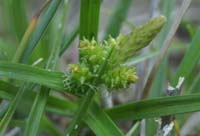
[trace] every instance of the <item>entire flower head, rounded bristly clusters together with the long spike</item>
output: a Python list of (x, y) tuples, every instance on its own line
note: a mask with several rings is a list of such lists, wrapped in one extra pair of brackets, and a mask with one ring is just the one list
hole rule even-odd
[[(156, 17), (134, 29), (131, 34), (121, 35), (116, 39), (110, 37), (104, 43), (87, 39), (81, 41), (79, 45), (80, 62), (69, 66), (67, 78), (64, 81), (66, 90), (76, 95), (84, 95), (90, 90), (88, 88), (98, 89), (101, 84), (106, 85), (109, 90), (117, 90), (135, 83), (138, 79), (135, 69), (122, 64), (138, 50), (147, 46), (159, 33), (165, 21), (163, 16)], [(105, 61), (108, 62), (105, 71), (98, 84), (93, 85)]]

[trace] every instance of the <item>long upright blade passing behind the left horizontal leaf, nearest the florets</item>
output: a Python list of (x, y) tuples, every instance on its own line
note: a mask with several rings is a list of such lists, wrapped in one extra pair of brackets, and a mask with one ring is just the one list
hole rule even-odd
[[(52, 46), (51, 55), (47, 61), (45, 69), (55, 69), (57, 66), (57, 62), (59, 59), (59, 53), (61, 48), (61, 40), (64, 34), (64, 26), (65, 26), (65, 17), (68, 9), (68, 2), (62, 1), (63, 6), (57, 12), (57, 16), (55, 18), (55, 24), (58, 23), (60, 26), (55, 26), (56, 37), (55, 42)], [(58, 2), (58, 5), (61, 3)], [(36, 98), (34, 99), (33, 106), (31, 108), (31, 112), (27, 119), (27, 125), (25, 127), (24, 136), (36, 136), (39, 132), (39, 124), (43, 115), (43, 112), (46, 107), (47, 99), (49, 97), (50, 88), (42, 86), (41, 90), (37, 93)]]

